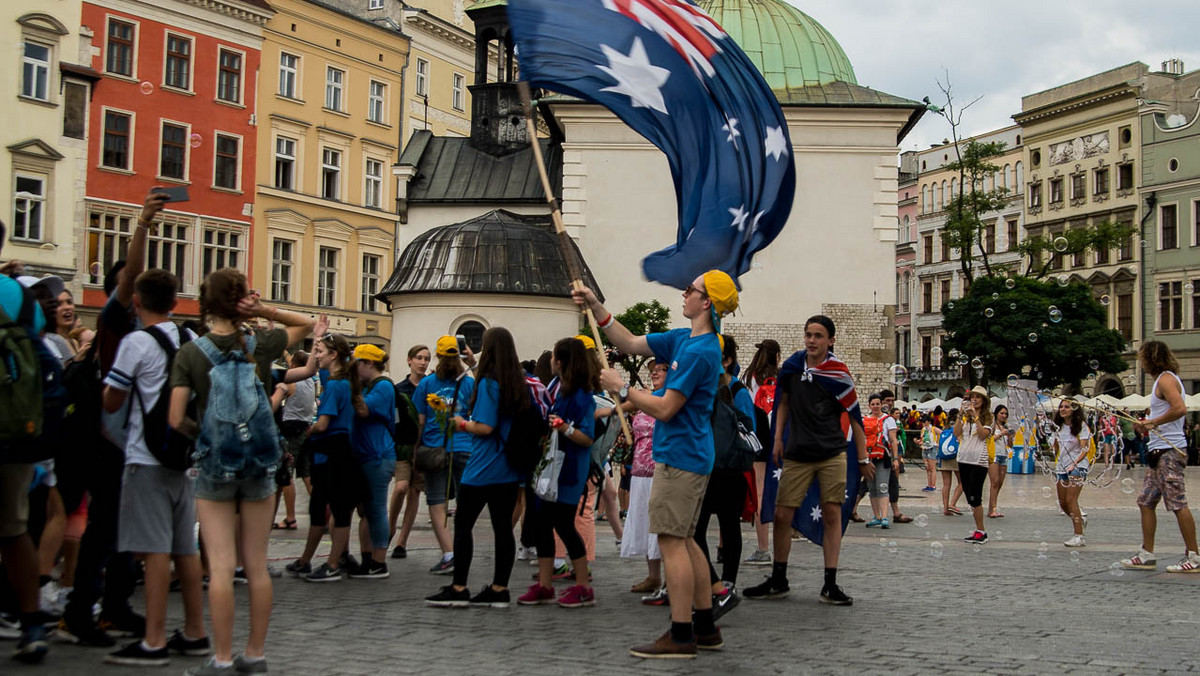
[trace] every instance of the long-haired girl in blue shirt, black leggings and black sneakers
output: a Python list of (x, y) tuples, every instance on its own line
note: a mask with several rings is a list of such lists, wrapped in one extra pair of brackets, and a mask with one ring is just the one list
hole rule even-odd
[[(456, 430), (470, 435), (472, 447), (470, 460), (458, 486), (454, 518), (454, 584), (425, 599), (427, 605), (438, 608), (468, 604), (508, 608), (510, 602), (509, 576), (517, 546), (512, 537), (512, 514), (517, 486), (524, 477), (509, 465), (504, 444), (514, 414), (533, 406), (533, 397), (508, 329), (496, 327), (484, 334), (482, 355), (475, 376), (478, 381), (469, 403), (469, 419), (461, 415), (451, 419)], [(475, 554), (472, 530), (485, 505), (496, 538), (496, 570), (492, 584), (472, 597), (467, 590), (467, 576)]]

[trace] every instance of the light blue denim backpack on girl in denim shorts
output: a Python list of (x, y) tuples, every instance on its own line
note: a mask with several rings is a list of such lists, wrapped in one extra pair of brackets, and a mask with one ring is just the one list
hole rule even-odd
[(248, 354), (258, 340), (246, 335), (246, 349), (221, 352), (208, 336), (193, 341), (212, 363), (209, 407), (196, 439), (197, 467), (222, 480), (265, 477), (280, 465), (280, 432), (257, 367)]

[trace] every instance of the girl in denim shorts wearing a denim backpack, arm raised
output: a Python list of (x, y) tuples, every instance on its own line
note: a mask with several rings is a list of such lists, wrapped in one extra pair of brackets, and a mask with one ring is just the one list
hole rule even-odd
[[(313, 330), (313, 321), (298, 312), (264, 305), (257, 292), (250, 289), (246, 276), (230, 268), (211, 273), (200, 285), (200, 315), (211, 330), (197, 341), (188, 342), (175, 355), (170, 373), (170, 426), (182, 432), (197, 432), (196, 421), (187, 419), (187, 406), (193, 401), (198, 419), (204, 419), (208, 407), (209, 370), (212, 363), (197, 345), (199, 340), (229, 354), (241, 352), (256, 364), (258, 378), (270, 383), (271, 363), (283, 354), (288, 345), (300, 342)], [(280, 329), (253, 329), (253, 349), (250, 349), (242, 322), (268, 319)], [(265, 393), (264, 393), (265, 394)], [(236, 668), (239, 671), (266, 671), (264, 648), (266, 627), (271, 616), (271, 576), (266, 569), (266, 546), (275, 519), (274, 472), (252, 471), (247, 463), (245, 475), (229, 478), (209, 473), (204, 463), (196, 478), (196, 513), (203, 533), (209, 561), (209, 612), (212, 618), (215, 654), (192, 670), (197, 674)], [(262, 469), (262, 468), (259, 468)], [(234, 593), (233, 575), (241, 555), (250, 590), (250, 636), (245, 652), (233, 657)]]

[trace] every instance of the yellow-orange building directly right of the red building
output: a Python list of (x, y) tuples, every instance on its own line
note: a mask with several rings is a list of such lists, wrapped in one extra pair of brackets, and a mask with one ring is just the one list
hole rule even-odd
[(272, 0), (259, 77), (253, 277), (265, 298), (389, 343), (374, 299), (395, 263), (389, 167), (404, 134), (408, 38), (306, 0)]

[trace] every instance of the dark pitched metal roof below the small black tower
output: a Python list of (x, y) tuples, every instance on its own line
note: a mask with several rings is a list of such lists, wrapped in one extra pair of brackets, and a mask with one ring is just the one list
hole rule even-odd
[[(550, 172), (554, 197), (563, 195), (562, 148), (539, 139)], [(416, 167), (408, 183), (409, 203), (445, 202), (546, 202), (532, 148), (506, 155), (490, 155), (469, 138), (433, 136), (428, 130), (413, 134), (400, 164)]]

